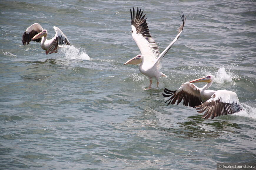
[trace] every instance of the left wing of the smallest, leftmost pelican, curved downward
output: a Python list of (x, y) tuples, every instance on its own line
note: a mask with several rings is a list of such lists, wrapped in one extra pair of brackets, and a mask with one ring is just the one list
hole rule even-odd
[(37, 43), (41, 42), (42, 38), (38, 38), (36, 40), (32, 40), (32, 38), (40, 33), (43, 30), (43, 28), (40, 26), (39, 23), (34, 23), (33, 25), (29, 26), (29, 28), (26, 29), (26, 31), (22, 35), (22, 43), (23, 45), (29, 44), (30, 41), (36, 41)]

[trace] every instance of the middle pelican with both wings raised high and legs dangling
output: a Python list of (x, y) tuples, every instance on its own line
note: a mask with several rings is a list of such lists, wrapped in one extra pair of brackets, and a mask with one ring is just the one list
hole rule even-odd
[[(133, 12), (130, 9), (131, 18), (132, 18), (132, 38), (136, 42), (137, 46), (141, 54), (136, 57), (128, 60), (124, 64), (139, 64), (139, 71), (145, 76), (149, 77), (150, 84), (147, 89), (151, 89), (152, 78), (154, 77), (157, 80), (157, 87), (159, 84), (160, 77), (167, 77), (164, 73), (159, 72), (160, 61), (164, 57), (164, 55), (168, 52), (168, 50), (172, 47), (172, 45), (177, 41), (179, 35), (183, 30), (184, 23), (186, 21), (186, 17), (184, 14), (180, 15), (183, 24), (178, 29), (178, 35), (175, 39), (166, 47), (166, 49), (160, 54), (159, 48), (154, 41), (154, 39), (149, 34), (149, 29), (147, 26), (147, 22), (145, 15), (142, 16), (143, 11), (137, 8), (137, 13), (135, 16), (135, 10), (133, 8)], [(145, 18), (145, 19), (144, 19)], [(145, 90), (147, 90), (145, 89)]]

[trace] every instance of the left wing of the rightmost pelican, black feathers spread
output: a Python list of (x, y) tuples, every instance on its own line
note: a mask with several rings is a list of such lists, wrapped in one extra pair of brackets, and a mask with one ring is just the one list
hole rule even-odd
[(166, 102), (169, 101), (167, 105), (175, 104), (177, 101), (177, 105), (183, 100), (183, 105), (184, 106), (189, 106), (189, 107), (195, 107), (200, 104), (201, 102), (201, 97), (200, 97), (200, 88), (195, 86), (193, 83), (186, 82), (180, 86), (180, 88), (176, 91), (171, 91), (167, 88), (164, 88), (164, 97), (170, 97)]

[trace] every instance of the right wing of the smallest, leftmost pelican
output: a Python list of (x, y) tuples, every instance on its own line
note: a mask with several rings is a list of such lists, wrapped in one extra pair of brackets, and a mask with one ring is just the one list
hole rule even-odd
[(58, 48), (58, 45), (70, 45), (66, 35), (58, 27), (53, 28), (55, 30), (55, 36), (51, 39), (53, 43), (51, 43), (51, 46), (45, 51), (46, 54), (49, 52), (50, 54), (53, 53)]

